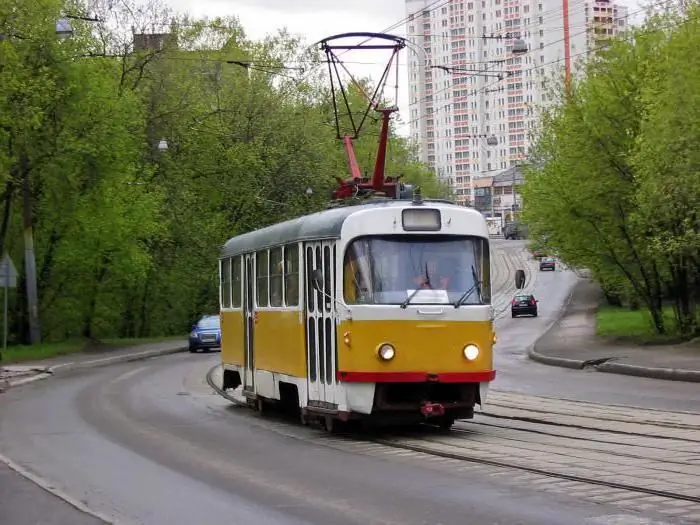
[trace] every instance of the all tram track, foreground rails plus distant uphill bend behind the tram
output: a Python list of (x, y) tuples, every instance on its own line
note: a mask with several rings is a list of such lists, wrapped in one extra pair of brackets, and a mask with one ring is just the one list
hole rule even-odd
[[(494, 248), (492, 298), (495, 317), (502, 318), (516, 293), (515, 270), (525, 269), (525, 293), (534, 289), (539, 273), (524, 247)], [(207, 374), (209, 386), (247, 406), (216, 385), (215, 369)], [(700, 436), (700, 416), (498, 391), (489, 396), (488, 407), (473, 420), (458, 421), (450, 433), (424, 427), (408, 436), (331, 435), (289, 421), (270, 424), (271, 430), (350, 453), (478, 471), (538, 490), (635, 510), (665, 508), (674, 517), (700, 521), (700, 437), (694, 435)]]

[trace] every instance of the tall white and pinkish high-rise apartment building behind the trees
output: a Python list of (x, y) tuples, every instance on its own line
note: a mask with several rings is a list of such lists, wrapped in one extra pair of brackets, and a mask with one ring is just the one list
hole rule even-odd
[[(525, 158), (545, 79), (563, 74), (562, 0), (406, 0), (406, 10), (411, 137), (470, 204), (473, 179)], [(572, 67), (626, 24), (624, 6), (569, 0)], [(527, 52), (513, 53), (518, 40)]]

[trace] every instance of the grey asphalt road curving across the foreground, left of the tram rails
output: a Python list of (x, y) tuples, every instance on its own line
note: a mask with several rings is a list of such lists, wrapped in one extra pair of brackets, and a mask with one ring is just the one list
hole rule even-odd
[(323, 446), (321, 431), (213, 395), (203, 374), (215, 362), (174, 355), (10, 391), (3, 453), (129, 524), (653, 523), (468, 470)]

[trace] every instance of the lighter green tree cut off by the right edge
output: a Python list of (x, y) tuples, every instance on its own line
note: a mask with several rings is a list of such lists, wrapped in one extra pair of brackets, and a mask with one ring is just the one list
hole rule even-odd
[(645, 118), (632, 155), (638, 191), (633, 216), (673, 298), (678, 330), (700, 333), (700, 9), (665, 20), (677, 25), (648, 70)]

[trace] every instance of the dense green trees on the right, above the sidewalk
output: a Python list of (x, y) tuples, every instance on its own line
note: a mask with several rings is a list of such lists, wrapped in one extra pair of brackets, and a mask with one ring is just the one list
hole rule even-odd
[(660, 335), (700, 334), (698, 46), (697, 6), (613, 41), (545, 111), (523, 191), (533, 235)]

